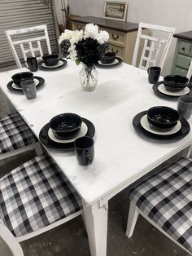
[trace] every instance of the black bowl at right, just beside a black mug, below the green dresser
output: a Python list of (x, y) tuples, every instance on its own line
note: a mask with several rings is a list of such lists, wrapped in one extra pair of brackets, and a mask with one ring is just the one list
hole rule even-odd
[(170, 75), (164, 77), (164, 87), (168, 91), (179, 91), (183, 90), (189, 79), (187, 77), (182, 77), (179, 75)]

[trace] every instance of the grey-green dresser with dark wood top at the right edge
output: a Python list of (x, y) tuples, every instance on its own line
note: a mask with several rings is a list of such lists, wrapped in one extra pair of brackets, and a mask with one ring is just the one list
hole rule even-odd
[(192, 60), (192, 31), (176, 33), (177, 46), (172, 60), (172, 74), (186, 76)]

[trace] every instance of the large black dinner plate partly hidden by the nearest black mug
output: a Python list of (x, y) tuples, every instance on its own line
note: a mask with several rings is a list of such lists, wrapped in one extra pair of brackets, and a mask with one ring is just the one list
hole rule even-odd
[[(82, 118), (82, 121), (87, 126), (88, 130), (85, 136), (89, 136), (91, 138), (94, 137), (95, 128), (91, 121)], [(48, 135), (48, 130), (50, 129), (50, 124), (47, 123), (45, 126), (42, 127), (39, 133), (39, 140), (43, 143), (47, 148), (59, 150), (59, 151), (68, 151), (74, 149), (74, 142), (70, 143), (58, 143), (50, 139)]]

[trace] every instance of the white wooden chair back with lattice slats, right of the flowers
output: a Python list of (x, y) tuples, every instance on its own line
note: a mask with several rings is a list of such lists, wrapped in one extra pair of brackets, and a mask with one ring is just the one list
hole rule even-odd
[[(142, 29), (149, 29), (150, 32), (153, 31), (152, 35), (142, 34), (142, 31), (144, 31)], [(154, 35), (156, 32), (160, 33), (162, 38), (156, 37)], [(164, 36), (166, 33), (167, 38), (163, 38), (162, 33), (164, 33)], [(140, 42), (142, 39), (144, 40), (144, 45), (138, 67), (144, 70), (147, 70), (147, 68), (151, 66), (159, 66), (160, 68), (163, 68), (164, 61), (168, 55), (168, 49), (172, 42), (173, 33), (175, 33), (175, 28), (140, 23), (133, 51), (132, 65), (136, 66), (137, 64), (137, 54), (141, 48)]]

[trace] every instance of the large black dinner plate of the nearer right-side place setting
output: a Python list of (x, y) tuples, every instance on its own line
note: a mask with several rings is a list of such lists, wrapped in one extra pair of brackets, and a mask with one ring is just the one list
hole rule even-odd
[(138, 133), (145, 135), (146, 137), (149, 137), (151, 139), (160, 139), (160, 140), (168, 140), (168, 139), (182, 139), (183, 137), (185, 137), (186, 135), (188, 135), (188, 133), (190, 132), (190, 125), (188, 123), (188, 121), (185, 120), (185, 118), (180, 117), (180, 121), (181, 121), (181, 129), (178, 130), (176, 133), (172, 134), (172, 135), (156, 135), (148, 130), (145, 130), (140, 121), (141, 118), (146, 115), (146, 111), (142, 111), (141, 113), (138, 113), (134, 118), (133, 118), (133, 127), (135, 128), (135, 130), (137, 130)]

